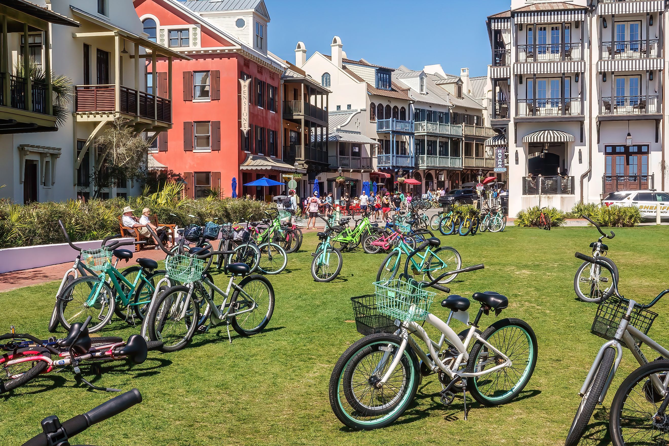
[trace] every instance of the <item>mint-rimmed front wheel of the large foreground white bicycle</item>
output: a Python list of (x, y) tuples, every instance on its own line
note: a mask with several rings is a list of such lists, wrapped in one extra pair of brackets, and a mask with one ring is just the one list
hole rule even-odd
[(352, 429), (378, 429), (404, 413), (420, 381), (413, 349), (405, 348), (385, 386), (375, 386), (387, 372), (400, 344), (401, 339), (393, 334), (371, 334), (355, 342), (339, 358), (328, 386), (330, 407), (339, 421)]

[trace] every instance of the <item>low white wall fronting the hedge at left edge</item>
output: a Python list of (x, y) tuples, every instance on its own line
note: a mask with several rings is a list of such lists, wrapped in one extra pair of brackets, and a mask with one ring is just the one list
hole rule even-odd
[[(134, 241), (134, 239), (130, 237), (124, 237), (118, 240)], [(101, 243), (102, 240), (92, 240), (78, 241), (74, 244), (82, 249), (95, 249), (99, 248)], [(132, 245), (125, 245), (123, 248), (134, 251)], [(77, 255), (78, 251), (72, 249), (68, 243), (0, 249), (0, 273), (39, 268), (68, 261), (74, 263), (74, 258)]]

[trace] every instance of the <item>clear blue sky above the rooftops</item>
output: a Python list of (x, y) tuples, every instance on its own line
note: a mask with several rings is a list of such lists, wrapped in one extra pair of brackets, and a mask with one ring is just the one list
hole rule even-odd
[(265, 0), (272, 53), (295, 62), (303, 41), (307, 57), (330, 53), (339, 35), (350, 59), (419, 70), (442, 64), (444, 71), (485, 76), (490, 64), (486, 17), (505, 11), (510, 0)]

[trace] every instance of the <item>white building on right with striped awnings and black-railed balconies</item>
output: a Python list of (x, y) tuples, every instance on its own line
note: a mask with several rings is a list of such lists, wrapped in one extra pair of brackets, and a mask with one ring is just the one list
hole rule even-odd
[(665, 3), (512, 0), (488, 17), (510, 214), (664, 189)]

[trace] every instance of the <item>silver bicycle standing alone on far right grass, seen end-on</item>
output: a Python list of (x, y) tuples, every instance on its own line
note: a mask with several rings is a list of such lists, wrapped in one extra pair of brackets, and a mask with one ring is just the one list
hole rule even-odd
[[(611, 235), (607, 235), (601, 230), (601, 227), (599, 227), (597, 223), (585, 215), (582, 215), (582, 217), (592, 223), (601, 234), (597, 241), (590, 243), (592, 257), (599, 258), (601, 261), (609, 263), (611, 269), (613, 269), (613, 272), (615, 273), (615, 280), (618, 280), (617, 266), (615, 266), (615, 263), (613, 263), (611, 259), (605, 257), (609, 247), (601, 242), (604, 238), (612, 239), (615, 237), (615, 233), (611, 231)], [(607, 284), (610, 284), (613, 281), (607, 273), (608, 269), (601, 269), (601, 267), (595, 263), (589, 263), (587, 261), (581, 263), (581, 266), (579, 266), (574, 275), (574, 291), (576, 292), (576, 296), (583, 302), (595, 302), (596, 304), (599, 304), (603, 299), (609, 298), (613, 293), (611, 290), (613, 286), (609, 285), (607, 288)], [(581, 287), (583, 287), (583, 290), (581, 290)]]

